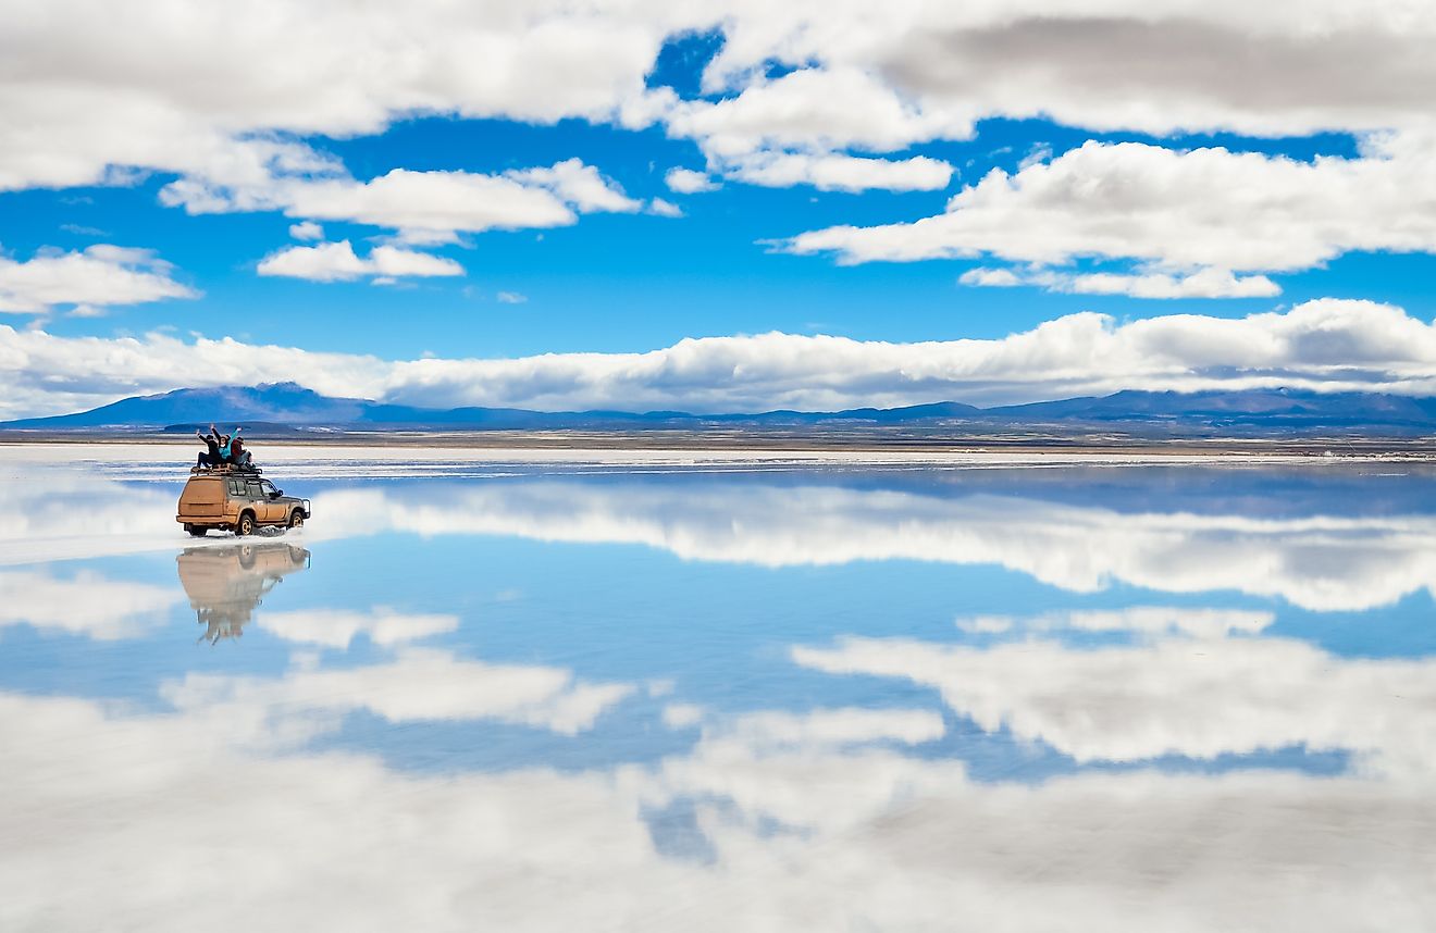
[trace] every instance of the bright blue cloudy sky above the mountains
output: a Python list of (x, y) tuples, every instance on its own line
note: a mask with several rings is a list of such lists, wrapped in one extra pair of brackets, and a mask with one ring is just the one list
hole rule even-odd
[(1430, 4), (0, 9), (0, 418), (1436, 395)]

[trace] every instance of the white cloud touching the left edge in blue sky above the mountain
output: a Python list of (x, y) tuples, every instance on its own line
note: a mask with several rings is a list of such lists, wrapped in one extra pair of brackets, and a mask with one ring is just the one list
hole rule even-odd
[(76, 306), (80, 314), (115, 304), (197, 299), (172, 278), (174, 267), (149, 250), (95, 244), (78, 253), (40, 251), (19, 263), (0, 255), (0, 313), (43, 314)]

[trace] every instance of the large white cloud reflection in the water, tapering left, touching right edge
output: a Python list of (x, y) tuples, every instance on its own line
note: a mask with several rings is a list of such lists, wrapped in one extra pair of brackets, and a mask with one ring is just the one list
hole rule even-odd
[[(1035, 633), (1048, 624), (1040, 619)], [(982, 731), (1008, 729), (1078, 762), (1301, 746), (1353, 752), (1373, 772), (1436, 774), (1436, 659), (1340, 657), (1297, 639), (1209, 630), (1146, 634), (1097, 647), (1032, 633), (985, 647), (843, 637), (794, 647), (793, 659), (931, 686)]]

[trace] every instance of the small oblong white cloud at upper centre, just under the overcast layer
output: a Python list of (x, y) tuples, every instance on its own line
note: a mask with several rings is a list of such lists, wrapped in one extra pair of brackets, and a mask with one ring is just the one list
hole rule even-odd
[(952, 167), (925, 155), (895, 161), (763, 152), (738, 159), (728, 174), (738, 181), (768, 188), (813, 185), (819, 191), (935, 191), (948, 187)]

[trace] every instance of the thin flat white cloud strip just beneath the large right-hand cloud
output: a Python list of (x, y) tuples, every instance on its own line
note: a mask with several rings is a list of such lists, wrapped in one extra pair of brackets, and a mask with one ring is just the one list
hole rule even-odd
[(1167, 273), (1087, 273), (1053, 270), (1014, 273), (1010, 268), (972, 268), (958, 278), (965, 286), (1038, 286), (1071, 294), (1130, 294), (1137, 299), (1251, 299), (1281, 294), (1267, 276), (1235, 276), (1223, 268), (1203, 268), (1186, 276)]

